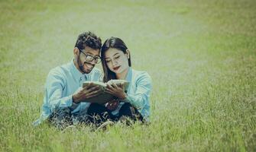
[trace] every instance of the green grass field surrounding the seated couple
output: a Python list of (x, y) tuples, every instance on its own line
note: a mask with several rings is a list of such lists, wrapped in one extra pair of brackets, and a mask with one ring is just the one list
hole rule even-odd
[[(256, 151), (255, 25), (254, 0), (0, 1), (0, 151)], [(87, 30), (151, 75), (151, 125), (31, 125)]]

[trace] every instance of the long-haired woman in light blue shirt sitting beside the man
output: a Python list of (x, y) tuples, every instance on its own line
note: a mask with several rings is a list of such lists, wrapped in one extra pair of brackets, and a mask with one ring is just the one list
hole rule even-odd
[(131, 55), (125, 43), (111, 37), (105, 40), (101, 50), (103, 81), (122, 79), (129, 82), (127, 93), (122, 86), (111, 84), (106, 91), (118, 100), (106, 104), (107, 109), (117, 119), (130, 118), (147, 122), (150, 116), (151, 77), (145, 71), (136, 71), (131, 68)]

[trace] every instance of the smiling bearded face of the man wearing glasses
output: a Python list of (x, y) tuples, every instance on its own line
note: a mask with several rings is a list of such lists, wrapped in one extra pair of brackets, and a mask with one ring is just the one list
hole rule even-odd
[(89, 46), (86, 46), (85, 49), (81, 50), (83, 52), (79, 52), (79, 56), (77, 59), (77, 65), (79, 66), (80, 71), (83, 73), (89, 74), (92, 71), (92, 68), (96, 65), (95, 60), (89, 62), (86, 60), (86, 55), (90, 55), (93, 57), (99, 57), (99, 49), (92, 49)]

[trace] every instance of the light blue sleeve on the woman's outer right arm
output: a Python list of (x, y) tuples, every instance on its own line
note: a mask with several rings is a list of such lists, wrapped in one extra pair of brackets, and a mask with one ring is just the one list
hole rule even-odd
[(146, 72), (141, 74), (136, 81), (136, 86), (135, 93), (128, 93), (125, 102), (131, 103), (137, 109), (142, 109), (150, 97), (152, 89), (151, 77)]

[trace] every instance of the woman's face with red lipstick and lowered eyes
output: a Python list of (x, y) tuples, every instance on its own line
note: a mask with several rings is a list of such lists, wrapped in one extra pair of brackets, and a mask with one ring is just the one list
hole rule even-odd
[(119, 49), (110, 48), (105, 52), (105, 62), (110, 71), (115, 72), (115, 74), (122, 73), (127, 68), (129, 52), (124, 53)]

